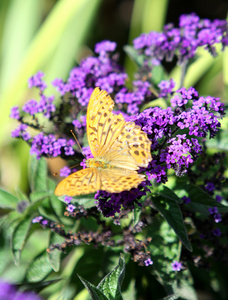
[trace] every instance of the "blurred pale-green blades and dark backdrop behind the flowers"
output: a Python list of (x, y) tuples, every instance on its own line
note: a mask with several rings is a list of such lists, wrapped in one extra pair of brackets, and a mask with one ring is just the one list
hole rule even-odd
[[(178, 25), (180, 14), (196, 12), (201, 18), (226, 18), (227, 1), (181, 0), (1, 0), (0, 1), (0, 186), (14, 192), (26, 191), (29, 147), (11, 138), (17, 126), (9, 118), (12, 106), (38, 95), (27, 88), (30, 76), (41, 70), (49, 84), (67, 79), (70, 69), (81, 58), (92, 55), (95, 43), (117, 42), (120, 62), (130, 78), (134, 66), (125, 57), (123, 46), (142, 32), (160, 31), (164, 24)], [(192, 66), (186, 86), (199, 92), (227, 95), (227, 54), (216, 60), (207, 56)], [(179, 69), (170, 69), (178, 81)], [(223, 79), (225, 78), (225, 79)], [(55, 94), (49, 87), (47, 93)], [(226, 94), (226, 95), (225, 95)], [(58, 170), (57, 170), (58, 171)]]

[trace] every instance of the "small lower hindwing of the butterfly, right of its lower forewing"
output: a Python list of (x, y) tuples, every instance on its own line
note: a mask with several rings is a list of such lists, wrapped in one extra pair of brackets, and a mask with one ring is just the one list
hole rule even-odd
[(126, 169), (113, 169), (113, 170), (99, 170), (101, 177), (100, 190), (109, 193), (120, 193), (123, 191), (130, 191), (136, 188), (145, 176), (138, 174), (136, 171)]

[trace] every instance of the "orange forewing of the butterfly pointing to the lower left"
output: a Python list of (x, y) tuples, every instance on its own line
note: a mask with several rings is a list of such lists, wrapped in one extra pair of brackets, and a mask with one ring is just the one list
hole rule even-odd
[(86, 168), (72, 173), (63, 179), (55, 189), (56, 196), (77, 196), (94, 193), (100, 189), (101, 180), (98, 170)]

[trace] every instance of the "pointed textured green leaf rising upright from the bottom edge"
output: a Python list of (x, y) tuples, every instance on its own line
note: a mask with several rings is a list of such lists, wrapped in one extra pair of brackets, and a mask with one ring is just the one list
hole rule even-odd
[(125, 262), (120, 257), (119, 264), (99, 283), (98, 288), (108, 299), (121, 300), (121, 285), (124, 278)]

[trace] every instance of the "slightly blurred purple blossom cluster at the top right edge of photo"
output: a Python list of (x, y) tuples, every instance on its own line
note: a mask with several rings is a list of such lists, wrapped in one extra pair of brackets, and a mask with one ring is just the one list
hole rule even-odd
[(159, 64), (163, 59), (172, 61), (174, 55), (181, 63), (194, 57), (200, 46), (215, 56), (216, 44), (221, 43), (223, 49), (228, 45), (227, 32), (225, 20), (201, 20), (196, 14), (182, 15), (178, 28), (167, 24), (163, 32), (141, 34), (133, 41), (133, 45), (139, 54), (146, 56), (146, 64)]

